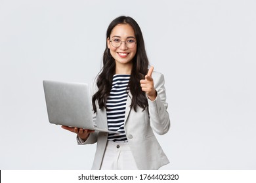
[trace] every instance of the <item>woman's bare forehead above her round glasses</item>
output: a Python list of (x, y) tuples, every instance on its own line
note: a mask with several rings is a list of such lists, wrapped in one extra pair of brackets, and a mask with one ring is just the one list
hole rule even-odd
[(118, 24), (112, 29), (110, 37), (135, 37), (133, 27), (129, 24)]

